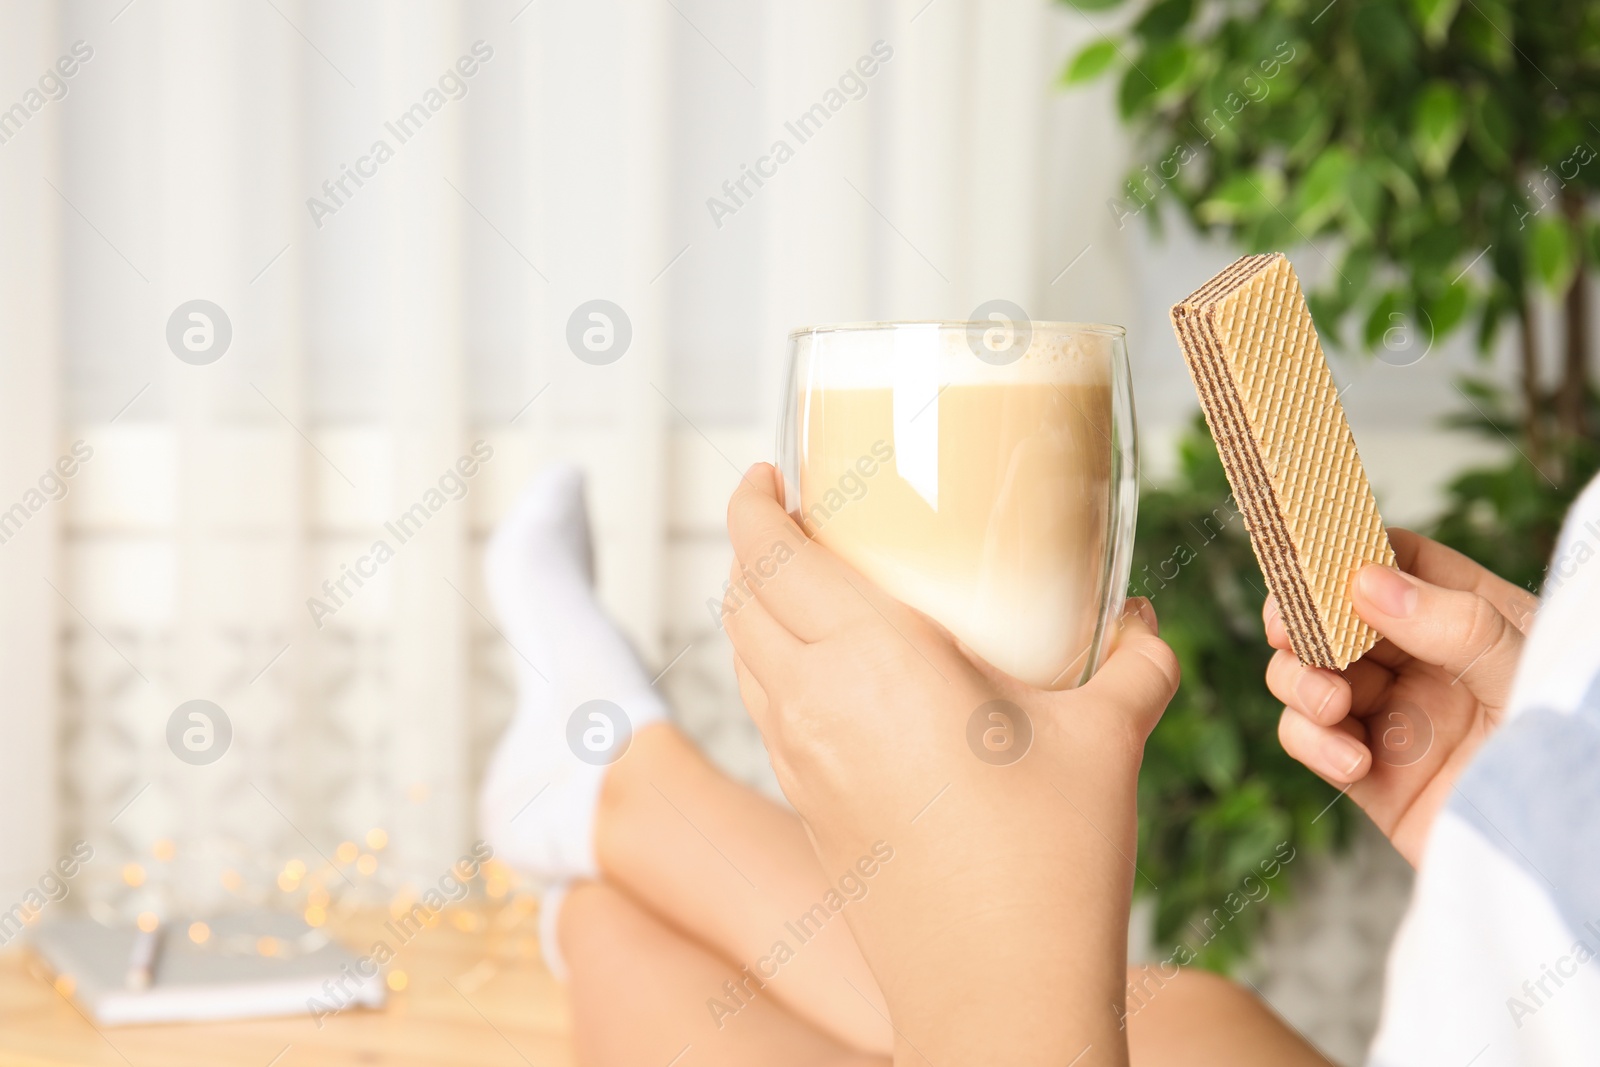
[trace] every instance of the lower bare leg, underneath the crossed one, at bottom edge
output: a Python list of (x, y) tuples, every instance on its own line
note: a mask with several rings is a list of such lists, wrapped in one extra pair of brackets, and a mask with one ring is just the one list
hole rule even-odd
[(714, 1014), (706, 1000), (731, 965), (603, 883), (582, 883), (566, 897), (560, 937), (582, 1064), (888, 1067), (888, 1059), (842, 1046), (763, 993), (723, 998), (738, 1011)]

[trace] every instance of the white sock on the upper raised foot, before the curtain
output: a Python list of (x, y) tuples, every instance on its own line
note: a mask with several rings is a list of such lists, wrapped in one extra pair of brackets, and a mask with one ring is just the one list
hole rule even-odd
[(483, 833), (501, 859), (546, 885), (594, 878), (600, 782), (632, 734), (667, 709), (595, 600), (576, 467), (533, 478), (490, 539), (483, 569), (517, 667), (517, 715), (478, 805)]

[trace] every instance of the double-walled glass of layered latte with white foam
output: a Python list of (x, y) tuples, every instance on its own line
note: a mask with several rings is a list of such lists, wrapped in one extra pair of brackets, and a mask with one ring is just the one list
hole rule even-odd
[(1094, 673), (1138, 509), (1122, 326), (795, 330), (778, 466), (808, 536), (984, 661), (1050, 689)]

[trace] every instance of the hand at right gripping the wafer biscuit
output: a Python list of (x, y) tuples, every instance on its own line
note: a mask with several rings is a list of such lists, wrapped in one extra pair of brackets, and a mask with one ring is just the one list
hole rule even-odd
[(1352, 577), (1355, 609), (1384, 640), (1346, 670), (1302, 667), (1274, 598), (1267, 688), (1285, 752), (1362, 805), (1413, 865), (1434, 816), (1499, 726), (1538, 598), (1410, 530), (1398, 569)]

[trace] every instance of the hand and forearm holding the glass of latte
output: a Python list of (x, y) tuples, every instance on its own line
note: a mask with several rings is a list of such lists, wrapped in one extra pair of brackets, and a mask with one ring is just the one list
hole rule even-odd
[(1086, 685), (1034, 689), (808, 541), (770, 466), (728, 530), (723, 622), (784, 793), (824, 870), (894, 849), (845, 915), (901, 1051), (1125, 1062), (1136, 779), (1178, 685), (1149, 603)]

